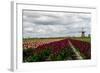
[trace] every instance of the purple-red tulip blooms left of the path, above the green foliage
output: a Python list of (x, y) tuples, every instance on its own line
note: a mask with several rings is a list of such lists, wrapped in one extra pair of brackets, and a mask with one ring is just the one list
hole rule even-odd
[(64, 40), (61, 40), (61, 41), (56, 41), (56, 42), (51, 42), (51, 43), (48, 43), (48, 44), (40, 45), (36, 48), (36, 51), (42, 52), (42, 50), (49, 48), (49, 49), (52, 50), (53, 54), (58, 54), (61, 51), (61, 49), (69, 48), (69, 47), (70, 47), (70, 45), (68, 43), (68, 39), (64, 39)]

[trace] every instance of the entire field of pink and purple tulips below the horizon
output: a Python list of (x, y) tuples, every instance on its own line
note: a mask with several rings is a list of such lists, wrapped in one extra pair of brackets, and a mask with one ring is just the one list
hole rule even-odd
[(74, 38), (23, 39), (23, 62), (80, 60), (76, 52), (82, 60), (91, 59), (90, 42)]

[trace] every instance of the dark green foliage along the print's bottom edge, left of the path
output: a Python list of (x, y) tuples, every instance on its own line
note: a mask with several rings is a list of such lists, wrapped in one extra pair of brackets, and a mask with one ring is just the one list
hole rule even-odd
[(40, 53), (33, 53), (33, 49), (23, 50), (23, 62), (40, 61), (61, 61), (74, 60), (75, 55), (71, 48), (63, 48), (58, 54), (52, 53), (51, 49), (42, 50)]

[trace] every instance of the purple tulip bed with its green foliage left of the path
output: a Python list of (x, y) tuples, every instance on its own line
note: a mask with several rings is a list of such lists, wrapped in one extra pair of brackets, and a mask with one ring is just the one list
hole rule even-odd
[(43, 44), (37, 48), (24, 49), (24, 62), (75, 60), (76, 55), (70, 48), (68, 39)]

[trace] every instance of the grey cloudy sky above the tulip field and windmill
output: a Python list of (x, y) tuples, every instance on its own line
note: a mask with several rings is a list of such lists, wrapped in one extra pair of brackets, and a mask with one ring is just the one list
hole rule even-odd
[(91, 14), (23, 10), (23, 37), (45, 38), (90, 34)]

